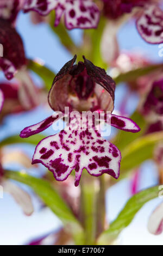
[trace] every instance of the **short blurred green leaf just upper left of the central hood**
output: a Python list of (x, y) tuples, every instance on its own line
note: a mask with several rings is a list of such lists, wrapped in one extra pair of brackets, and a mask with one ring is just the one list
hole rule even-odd
[(41, 65), (30, 59), (28, 61), (28, 69), (32, 70), (33, 72), (35, 72), (35, 74), (42, 78), (43, 82), (45, 83), (45, 88), (48, 91), (49, 89), (51, 89), (55, 77), (55, 74), (52, 70), (47, 68), (45, 65)]

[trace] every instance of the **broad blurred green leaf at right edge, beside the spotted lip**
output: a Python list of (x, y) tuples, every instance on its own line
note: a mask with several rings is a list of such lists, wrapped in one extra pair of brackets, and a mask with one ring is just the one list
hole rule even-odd
[(163, 141), (163, 132), (154, 132), (131, 142), (121, 151), (121, 172), (138, 167), (143, 161), (152, 159), (156, 143)]

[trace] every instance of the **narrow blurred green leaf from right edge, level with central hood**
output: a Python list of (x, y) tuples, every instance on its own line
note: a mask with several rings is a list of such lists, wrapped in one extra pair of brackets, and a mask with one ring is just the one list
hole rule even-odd
[(139, 68), (135, 70), (131, 70), (127, 73), (120, 74), (117, 77), (114, 78), (114, 81), (117, 83), (122, 83), (122, 82), (130, 82), (134, 81), (140, 76), (145, 76), (150, 74), (153, 71), (162, 69), (163, 64), (155, 64), (155, 65), (149, 65), (146, 66), (145, 68)]

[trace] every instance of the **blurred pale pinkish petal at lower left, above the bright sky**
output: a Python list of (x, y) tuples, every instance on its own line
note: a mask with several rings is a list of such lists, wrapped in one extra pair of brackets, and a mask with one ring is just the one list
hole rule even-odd
[(24, 214), (28, 216), (33, 214), (34, 208), (32, 200), (27, 192), (11, 183), (9, 180), (3, 180), (1, 185), (3, 186), (4, 192), (11, 194), (16, 203), (21, 206)]

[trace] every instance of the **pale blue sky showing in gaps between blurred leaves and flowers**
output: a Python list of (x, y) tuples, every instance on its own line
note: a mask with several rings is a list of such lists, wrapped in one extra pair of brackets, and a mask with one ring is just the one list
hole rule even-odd
[[(29, 58), (42, 59), (52, 70), (59, 71), (60, 68), (71, 58), (71, 55), (60, 45), (57, 37), (49, 30), (45, 24), (32, 25), (29, 15), (20, 14), (17, 22), (18, 32), (21, 34), (26, 54)], [(71, 31), (71, 35), (77, 43), (82, 39), (82, 32), (78, 29)], [(134, 50), (143, 52), (145, 56), (162, 62), (159, 57), (158, 45), (148, 45), (137, 34), (134, 22), (130, 22), (123, 26), (118, 34), (118, 41), (122, 50)], [(116, 90), (116, 108), (126, 93), (126, 87), (122, 85)], [(134, 111), (137, 104), (137, 98), (132, 96), (128, 109)], [(5, 119), (0, 127), (0, 139), (20, 132), (25, 126), (36, 123), (49, 115), (49, 109), (38, 107), (33, 112), (26, 114), (13, 115)], [(16, 120), (16, 121), (15, 121)], [(52, 132), (47, 130), (47, 134)], [(54, 131), (53, 131), (54, 133)], [(10, 147), (9, 147), (10, 148)], [(23, 149), (32, 157), (34, 147), (15, 145), (14, 148)], [(20, 166), (12, 167), (17, 169)], [(40, 166), (40, 172), (43, 172)], [(33, 169), (30, 170), (33, 172)], [(39, 173), (35, 172), (35, 175)], [(143, 163), (141, 167), (141, 179), (139, 189), (147, 188), (155, 185), (157, 182), (156, 167), (152, 161)], [(22, 214), (19, 206), (14, 202), (9, 194), (4, 194), (4, 198), (0, 199), (0, 245), (21, 245), (29, 240), (42, 236), (60, 227), (61, 223), (57, 217), (49, 209), (40, 210), (41, 203), (33, 192), (22, 186), (32, 195), (35, 205), (35, 212), (32, 216), (26, 217)], [(108, 220), (114, 220), (118, 212), (127, 202), (130, 194), (130, 181), (123, 180), (117, 185), (111, 187), (106, 193), (106, 209)], [(155, 206), (161, 202), (161, 199), (155, 199), (147, 203), (136, 215), (133, 222), (120, 235), (119, 243), (125, 245), (162, 245), (163, 234), (153, 236), (147, 231), (147, 221)]]

